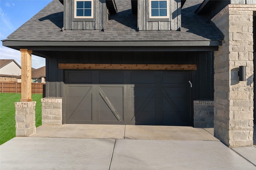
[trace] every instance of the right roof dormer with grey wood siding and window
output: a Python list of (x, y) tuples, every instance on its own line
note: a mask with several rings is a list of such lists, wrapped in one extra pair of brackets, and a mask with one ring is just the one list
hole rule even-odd
[(132, 0), (138, 15), (138, 30), (180, 30), (184, 0)]

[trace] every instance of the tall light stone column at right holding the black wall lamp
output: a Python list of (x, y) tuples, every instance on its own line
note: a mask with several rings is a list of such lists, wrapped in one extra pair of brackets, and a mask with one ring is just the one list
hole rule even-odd
[(253, 145), (253, 11), (256, 5), (230, 4), (212, 18), (225, 35), (214, 54), (214, 136), (229, 147)]

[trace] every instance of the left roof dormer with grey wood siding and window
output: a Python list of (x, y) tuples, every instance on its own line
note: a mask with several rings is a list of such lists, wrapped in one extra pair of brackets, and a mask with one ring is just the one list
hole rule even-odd
[(61, 0), (63, 29), (104, 29), (108, 14), (116, 14), (114, 0)]

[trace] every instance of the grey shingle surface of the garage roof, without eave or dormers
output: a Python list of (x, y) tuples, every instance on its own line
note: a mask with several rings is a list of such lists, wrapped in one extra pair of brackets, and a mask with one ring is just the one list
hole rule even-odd
[(137, 16), (130, 0), (115, 0), (118, 13), (110, 16), (102, 30), (62, 30), (63, 5), (53, 0), (38, 14), (8, 36), (7, 41), (221, 41), (207, 23), (208, 18), (194, 11), (202, 0), (186, 0), (182, 8), (181, 31), (138, 31)]

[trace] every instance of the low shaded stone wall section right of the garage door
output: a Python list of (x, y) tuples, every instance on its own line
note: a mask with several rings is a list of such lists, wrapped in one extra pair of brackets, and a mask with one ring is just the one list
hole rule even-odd
[(194, 127), (214, 127), (214, 102), (194, 100)]

